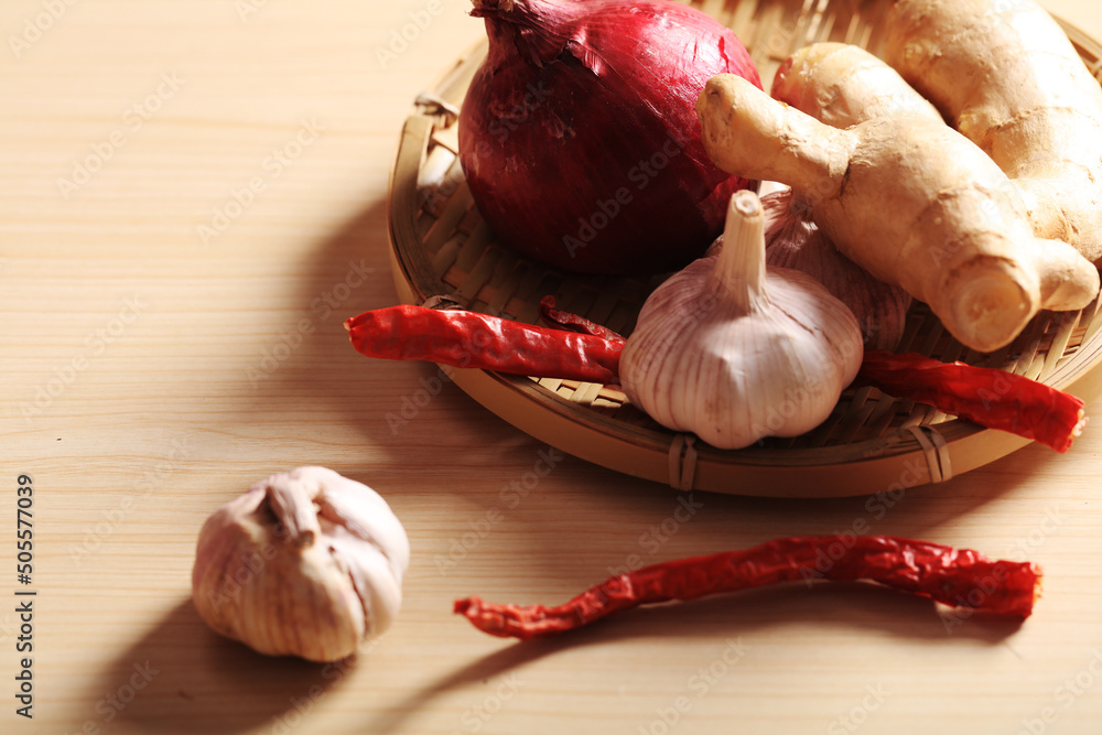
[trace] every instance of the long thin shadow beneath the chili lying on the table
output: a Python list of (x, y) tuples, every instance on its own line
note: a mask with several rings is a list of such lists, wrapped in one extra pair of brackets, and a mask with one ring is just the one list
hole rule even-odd
[[(365, 732), (397, 732), (434, 698), (454, 690), (471, 689), (472, 696), (482, 701), (486, 691), (479, 684), (591, 644), (615, 656), (616, 645), (630, 645), (637, 639), (714, 639), (716, 651), (722, 652), (715, 661), (702, 664), (722, 661), (724, 671), (731, 668), (737, 672), (737, 660), (754, 655), (752, 634), (784, 626), (807, 629), (810, 621), (829, 636), (857, 633), (917, 639), (930, 646), (1004, 645), (1022, 625), (1017, 618), (979, 613), (969, 616), (966, 612), (942, 608), (929, 599), (867, 583), (817, 583), (811, 588), (792, 583), (691, 603), (652, 605), (552, 638), (507, 644), (441, 677), (432, 685), (411, 692), (365, 725)], [(747, 637), (745, 645), (743, 636)], [(656, 660), (653, 666), (660, 667), (661, 661)], [(883, 661), (868, 662), (871, 671), (878, 670), (877, 667), (883, 667)]]

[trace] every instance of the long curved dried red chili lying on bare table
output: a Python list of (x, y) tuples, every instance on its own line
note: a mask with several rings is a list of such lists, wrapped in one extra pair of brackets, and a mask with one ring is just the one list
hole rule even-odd
[(1028, 617), (1040, 570), (992, 561), (969, 549), (884, 536), (795, 537), (742, 551), (694, 556), (618, 574), (564, 605), (498, 605), (477, 597), (454, 612), (479, 630), (528, 640), (573, 630), (620, 610), (780, 582), (868, 580), (954, 607)]

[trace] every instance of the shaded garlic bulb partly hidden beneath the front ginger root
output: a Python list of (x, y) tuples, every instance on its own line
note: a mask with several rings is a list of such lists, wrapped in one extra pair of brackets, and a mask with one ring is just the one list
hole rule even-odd
[(764, 196), (761, 205), (767, 221), (766, 263), (811, 275), (857, 317), (865, 347), (895, 349), (907, 326), (910, 294), (842, 255), (791, 190)]

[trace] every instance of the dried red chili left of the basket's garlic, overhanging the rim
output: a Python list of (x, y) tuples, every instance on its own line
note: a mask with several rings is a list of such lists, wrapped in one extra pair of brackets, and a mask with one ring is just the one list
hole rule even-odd
[(345, 322), (345, 328), (356, 349), (368, 357), (601, 383), (616, 381), (623, 349), (587, 334), (423, 306), (365, 312)]

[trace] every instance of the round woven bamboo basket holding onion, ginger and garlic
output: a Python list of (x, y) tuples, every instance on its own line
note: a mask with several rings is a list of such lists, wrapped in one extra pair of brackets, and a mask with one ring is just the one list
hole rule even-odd
[[(876, 53), (886, 0), (694, 0), (749, 50), (766, 89), (779, 64), (817, 41)], [(1059, 21), (1099, 78), (1102, 46)], [(562, 273), (494, 239), (472, 202), (456, 158), (456, 121), (486, 55), (468, 51), (414, 101), (390, 182), (391, 264), (399, 298), (421, 304), (445, 296), (460, 306), (536, 323), (540, 299), (622, 334), (658, 280)], [(1095, 300), (1078, 313), (1042, 312), (1007, 348), (981, 355), (951, 338), (921, 303), (909, 314), (899, 352), (998, 367), (1091, 401), (1102, 392), (1102, 315)], [(455, 383), (488, 410), (542, 442), (583, 460), (682, 490), (753, 496), (836, 497), (942, 483), (1028, 440), (986, 430), (873, 388), (843, 393), (814, 431), (717, 450), (663, 429), (615, 386), (465, 369)], [(1074, 451), (1072, 448), (1071, 451)]]

